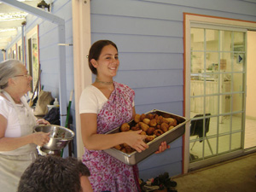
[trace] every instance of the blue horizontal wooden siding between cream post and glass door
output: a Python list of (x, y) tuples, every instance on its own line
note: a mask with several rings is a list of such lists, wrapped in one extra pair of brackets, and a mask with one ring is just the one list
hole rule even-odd
[[(252, 0), (251, 0), (252, 1)], [(115, 80), (136, 92), (137, 113), (154, 108), (183, 115), (183, 13), (256, 21), (256, 2), (238, 0), (94, 0), (91, 42), (119, 48)], [(139, 163), (140, 177), (182, 172), (182, 137)]]

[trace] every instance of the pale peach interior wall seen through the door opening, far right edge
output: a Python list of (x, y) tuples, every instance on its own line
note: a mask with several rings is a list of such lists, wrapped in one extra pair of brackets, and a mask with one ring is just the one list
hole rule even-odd
[(247, 32), (247, 106), (246, 115), (248, 118), (256, 119), (256, 32)]

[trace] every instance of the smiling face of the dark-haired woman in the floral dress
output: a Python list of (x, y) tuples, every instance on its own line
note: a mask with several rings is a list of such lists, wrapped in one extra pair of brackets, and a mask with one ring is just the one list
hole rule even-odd
[(116, 75), (119, 68), (119, 53), (113, 45), (103, 47), (98, 60), (91, 60), (97, 69), (97, 76), (101, 78), (112, 78)]

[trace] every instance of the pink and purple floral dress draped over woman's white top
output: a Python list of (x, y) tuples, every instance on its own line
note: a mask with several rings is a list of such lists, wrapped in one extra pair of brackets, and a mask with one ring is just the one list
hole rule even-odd
[[(131, 120), (134, 90), (114, 82), (115, 89), (97, 115), (97, 133), (104, 134)], [(138, 192), (137, 166), (128, 166), (102, 150), (84, 148), (83, 162), (90, 169), (93, 191)]]

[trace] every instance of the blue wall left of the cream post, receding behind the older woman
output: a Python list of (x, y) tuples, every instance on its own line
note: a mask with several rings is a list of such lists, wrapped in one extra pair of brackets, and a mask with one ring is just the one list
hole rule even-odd
[[(47, 1), (46, 1), (47, 2)], [(73, 27), (72, 27), (72, 1), (71, 0), (55, 0), (52, 1), (51, 14), (56, 15), (65, 20), (66, 43), (73, 44)], [(41, 85), (44, 85), (45, 91), (50, 91), (53, 97), (59, 99), (59, 49), (58, 49), (58, 28), (57, 25), (38, 18), (35, 15), (27, 15), (25, 36), (34, 26), (38, 25), (39, 38), (39, 62), (41, 64)], [(7, 49), (20, 40), (19, 34)], [(26, 40), (25, 40), (26, 42)], [(66, 76), (67, 82), (62, 82), (67, 86), (67, 100), (69, 100), (70, 92), (73, 90), (73, 46), (66, 47)], [(68, 105), (68, 101), (67, 101)], [(75, 127), (74, 117), (74, 100), (71, 107), (71, 115), (73, 116), (73, 126)], [(74, 128), (75, 129), (75, 128)], [(75, 131), (75, 130), (74, 130)], [(75, 139), (73, 143), (76, 143)], [(76, 156), (76, 150), (74, 150)]]

